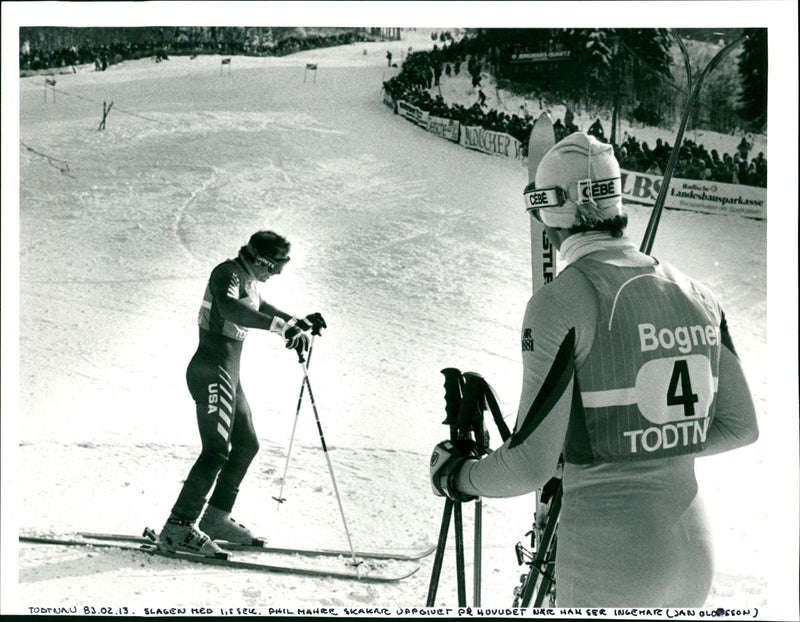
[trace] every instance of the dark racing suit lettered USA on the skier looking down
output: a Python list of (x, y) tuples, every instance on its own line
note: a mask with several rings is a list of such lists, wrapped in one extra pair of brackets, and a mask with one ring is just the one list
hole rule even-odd
[(214, 268), (206, 286), (198, 317), (200, 342), (186, 369), (186, 383), (197, 406), (202, 451), (172, 508), (173, 516), (183, 520), (197, 520), (212, 487), (209, 504), (230, 512), (258, 452), (250, 406), (239, 382), (248, 329), (226, 320), (219, 304), (229, 297), (258, 310), (261, 299), (256, 283), (237, 258)]

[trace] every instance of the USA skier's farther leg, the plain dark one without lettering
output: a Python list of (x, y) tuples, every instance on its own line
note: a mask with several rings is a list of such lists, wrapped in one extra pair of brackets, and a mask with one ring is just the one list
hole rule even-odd
[(209, 505), (230, 512), (239, 494), (239, 485), (242, 483), (250, 463), (258, 453), (258, 438), (253, 428), (253, 416), (250, 405), (242, 391), (242, 385), (236, 387), (236, 409), (231, 430), (231, 450), (228, 461), (222, 467), (217, 478), (214, 494), (209, 499)]

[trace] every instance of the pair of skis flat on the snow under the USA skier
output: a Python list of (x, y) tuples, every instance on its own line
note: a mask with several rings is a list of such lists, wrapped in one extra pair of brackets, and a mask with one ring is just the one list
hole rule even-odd
[[(349, 557), (352, 551), (336, 549), (312, 549), (312, 548), (288, 548), (269, 546), (263, 540), (255, 539), (251, 544), (237, 544), (234, 542), (218, 542), (225, 553), (216, 557), (204, 555), (169, 551), (160, 548), (156, 544), (156, 534), (152, 529), (145, 529), (143, 535), (134, 536), (127, 534), (113, 533), (89, 533), (82, 532), (73, 536), (59, 538), (56, 536), (20, 536), (20, 542), (37, 544), (55, 544), (62, 546), (91, 546), (97, 548), (113, 548), (125, 551), (138, 551), (150, 555), (179, 559), (198, 564), (213, 566), (223, 566), (240, 570), (252, 570), (258, 572), (274, 572), (283, 574), (295, 574), (312, 577), (328, 577), (336, 579), (358, 579), (371, 583), (389, 583), (400, 581), (413, 575), (419, 570), (419, 564), (415, 563), (427, 557), (434, 551), (434, 547), (423, 547), (408, 549), (404, 551), (356, 551), (359, 566), (353, 567), (353, 562), (346, 562), (345, 568), (320, 567), (319, 562), (323, 558)], [(247, 559), (229, 558), (228, 552), (247, 552), (247, 553), (268, 553), (272, 555), (306, 557), (314, 560), (313, 567), (301, 566), (294, 563), (283, 561), (263, 562)], [(361, 567), (363, 562), (364, 568)], [(400, 562), (399, 569), (381, 568), (386, 562)], [(409, 567), (408, 564), (413, 564)]]

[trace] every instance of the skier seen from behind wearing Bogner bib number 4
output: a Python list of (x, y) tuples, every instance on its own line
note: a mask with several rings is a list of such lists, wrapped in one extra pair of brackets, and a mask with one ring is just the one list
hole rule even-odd
[(725, 315), (705, 286), (624, 237), (610, 145), (568, 136), (526, 201), (567, 267), (525, 311), (513, 434), (480, 460), (437, 445), (434, 489), (522, 495), (563, 455), (557, 603), (701, 606), (714, 563), (695, 458), (758, 437)]

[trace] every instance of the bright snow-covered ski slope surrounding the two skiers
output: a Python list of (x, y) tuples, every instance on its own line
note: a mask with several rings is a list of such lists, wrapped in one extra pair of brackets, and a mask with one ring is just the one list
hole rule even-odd
[[(214, 56), (123, 63), (59, 76), (55, 102), (43, 101), (41, 78), (19, 80), (16, 430), (4, 421), (4, 435), (19, 440), (11, 446), (19, 469), (3, 473), (12, 524), (37, 533), (160, 527), (198, 450), (183, 375), (208, 272), (253, 231), (272, 228), (292, 240), (293, 259), (265, 297), (293, 313), (321, 311), (330, 327), (309, 373), (353, 542), (435, 543), (442, 502), (430, 492), (427, 460), (447, 435), (439, 371), (482, 373), (509, 421), (515, 416), (530, 289), (526, 173), (382, 104), (386, 50), (397, 59), (431, 43), (427, 33), (410, 36), (234, 57), (230, 73)], [(40, 153), (66, 161), (68, 174)], [(638, 240), (649, 210), (629, 206), (629, 214)], [(763, 609), (783, 596), (770, 583), (776, 567), (796, 573), (783, 532), (787, 503), (796, 507), (764, 483), (780, 473), (791, 482), (796, 467), (787, 471), (782, 459), (795, 451), (794, 415), (768, 409), (767, 223), (667, 211), (654, 254), (719, 292), (756, 398), (759, 442), (704, 459), (698, 477), (717, 549), (707, 606)], [(252, 334), (242, 367), (262, 449), (234, 515), (274, 544), (346, 547), (307, 400), (288, 501), (278, 509), (271, 499), (302, 379), (294, 356), (274, 335)], [(533, 499), (484, 506), (483, 605), (505, 607)], [(466, 516), (470, 534), (469, 506)], [(451, 558), (437, 601), (450, 607)], [(402, 583), (376, 586), (21, 544), (18, 569), (4, 566), (2, 607), (396, 612), (424, 604), (431, 562)]]

